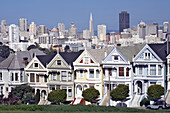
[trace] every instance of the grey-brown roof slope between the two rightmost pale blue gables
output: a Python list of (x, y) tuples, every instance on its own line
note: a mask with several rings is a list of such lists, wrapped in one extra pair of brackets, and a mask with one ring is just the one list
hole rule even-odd
[(135, 46), (127, 46), (127, 47), (116, 47), (122, 55), (130, 62), (132, 62), (133, 58), (142, 50), (145, 44), (139, 44)]

